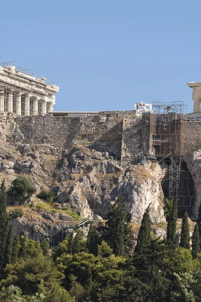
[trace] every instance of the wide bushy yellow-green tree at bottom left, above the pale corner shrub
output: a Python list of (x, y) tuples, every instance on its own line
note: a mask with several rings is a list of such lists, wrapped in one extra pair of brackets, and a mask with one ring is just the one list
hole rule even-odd
[[(40, 249), (40, 245), (38, 246)], [(43, 293), (45, 302), (70, 302), (71, 297), (61, 287), (64, 275), (57, 270), (54, 263), (42, 254), (26, 261), (20, 259), (15, 264), (8, 264), (5, 269), (6, 277), (1, 286), (15, 285), (23, 289), (23, 294), (32, 296)]]

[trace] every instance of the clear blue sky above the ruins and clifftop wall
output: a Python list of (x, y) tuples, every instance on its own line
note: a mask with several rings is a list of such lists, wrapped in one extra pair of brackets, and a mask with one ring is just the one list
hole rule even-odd
[(40, 71), (60, 87), (56, 110), (131, 110), (184, 101), (201, 82), (201, 2), (1, 2), (0, 62)]

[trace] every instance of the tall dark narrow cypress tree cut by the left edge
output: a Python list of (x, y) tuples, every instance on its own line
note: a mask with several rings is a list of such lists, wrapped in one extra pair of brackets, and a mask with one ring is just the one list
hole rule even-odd
[(5, 267), (5, 250), (9, 233), (9, 216), (7, 213), (7, 192), (5, 180), (0, 187), (0, 272)]

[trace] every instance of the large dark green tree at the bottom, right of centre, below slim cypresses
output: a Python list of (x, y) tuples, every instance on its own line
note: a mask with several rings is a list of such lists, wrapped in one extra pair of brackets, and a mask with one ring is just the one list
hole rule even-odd
[(134, 253), (132, 264), (134, 272), (126, 280), (127, 298), (124, 301), (171, 301), (169, 299), (172, 285), (172, 255), (174, 250), (160, 239), (149, 240), (143, 253)]

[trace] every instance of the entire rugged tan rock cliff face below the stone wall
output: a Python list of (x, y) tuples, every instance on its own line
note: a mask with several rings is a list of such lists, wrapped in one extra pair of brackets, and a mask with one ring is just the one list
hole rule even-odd
[(0, 180), (5, 178), (7, 185), (19, 175), (29, 175), (38, 192), (52, 188), (61, 207), (69, 206), (83, 217), (105, 217), (110, 203), (120, 197), (131, 221), (139, 223), (149, 204), (152, 222), (165, 221), (158, 164), (121, 166), (107, 152), (77, 147), (68, 153), (30, 144), (2, 147), (0, 158)]

